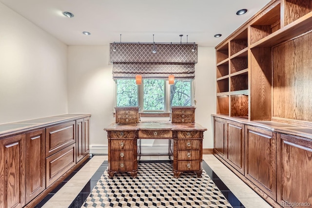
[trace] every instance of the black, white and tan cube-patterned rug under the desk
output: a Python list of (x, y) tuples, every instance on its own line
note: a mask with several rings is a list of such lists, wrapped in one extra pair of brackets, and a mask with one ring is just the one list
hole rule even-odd
[(140, 163), (137, 178), (109, 179), (105, 170), (82, 207), (232, 208), (205, 171), (202, 178), (186, 172), (176, 179), (171, 163)]

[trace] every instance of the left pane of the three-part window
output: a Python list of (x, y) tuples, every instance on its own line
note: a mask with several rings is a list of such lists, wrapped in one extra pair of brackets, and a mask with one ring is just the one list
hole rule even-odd
[(135, 79), (117, 79), (116, 106), (137, 106), (137, 84)]

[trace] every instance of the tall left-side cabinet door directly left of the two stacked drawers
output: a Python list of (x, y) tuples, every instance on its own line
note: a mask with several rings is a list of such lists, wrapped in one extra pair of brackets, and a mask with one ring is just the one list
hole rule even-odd
[(26, 204), (45, 189), (45, 129), (26, 133)]

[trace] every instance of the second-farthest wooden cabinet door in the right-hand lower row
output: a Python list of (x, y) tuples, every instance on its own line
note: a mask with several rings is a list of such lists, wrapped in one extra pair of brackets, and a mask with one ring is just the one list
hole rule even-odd
[(244, 125), (234, 121), (226, 122), (226, 159), (241, 174), (244, 174)]

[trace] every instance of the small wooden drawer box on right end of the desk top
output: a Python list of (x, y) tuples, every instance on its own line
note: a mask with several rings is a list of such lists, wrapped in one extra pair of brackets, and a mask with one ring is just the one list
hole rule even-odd
[(171, 107), (172, 123), (194, 123), (195, 108), (194, 107)]

